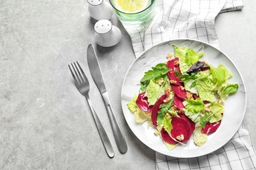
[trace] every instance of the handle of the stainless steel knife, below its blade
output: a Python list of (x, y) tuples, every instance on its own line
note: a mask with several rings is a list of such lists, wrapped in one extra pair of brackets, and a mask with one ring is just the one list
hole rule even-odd
[(112, 126), (112, 131), (114, 133), (114, 137), (116, 140), (117, 148), (122, 154), (125, 154), (127, 152), (127, 143), (125, 141), (125, 137), (123, 136), (123, 133), (121, 131), (121, 127), (119, 126), (116, 115), (114, 114), (114, 111), (112, 109), (112, 106), (110, 104), (110, 99), (108, 98), (108, 93), (102, 92), (102, 98), (104, 101), (104, 104), (106, 106), (106, 110), (108, 112), (108, 117), (110, 118), (110, 124)]

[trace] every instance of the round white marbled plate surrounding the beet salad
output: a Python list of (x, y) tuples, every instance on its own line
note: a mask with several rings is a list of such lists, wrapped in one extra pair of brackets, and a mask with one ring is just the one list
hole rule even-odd
[[(202, 146), (196, 146), (191, 137), (186, 143), (186, 146), (179, 145), (173, 150), (168, 150), (165, 144), (163, 144), (162, 139), (154, 135), (156, 129), (154, 127), (147, 127), (147, 123), (137, 124), (135, 122), (135, 115), (127, 109), (126, 104), (132, 101), (135, 94), (139, 93), (140, 79), (144, 76), (144, 72), (156, 66), (156, 64), (164, 62), (167, 54), (173, 54), (174, 50), (172, 44), (186, 46), (187, 48), (194, 49), (196, 52), (205, 52), (200, 59), (206, 59), (215, 67), (223, 63), (233, 74), (233, 77), (230, 78), (228, 82), (234, 82), (239, 85), (238, 92), (234, 95), (230, 95), (223, 105), (225, 112), (221, 126), (215, 133), (208, 136), (207, 143)], [(242, 76), (234, 63), (232, 63), (230, 58), (224, 55), (223, 52), (204, 42), (178, 39), (162, 42), (150, 48), (133, 62), (123, 81), (121, 105), (127, 124), (139, 140), (146, 144), (146, 146), (167, 156), (193, 158), (209, 154), (221, 148), (221, 146), (226, 144), (233, 137), (244, 119), (246, 93)]]

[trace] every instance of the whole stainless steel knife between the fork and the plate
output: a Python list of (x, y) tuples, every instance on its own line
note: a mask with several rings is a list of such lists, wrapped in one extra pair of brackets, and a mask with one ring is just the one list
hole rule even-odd
[(110, 124), (112, 126), (112, 131), (114, 133), (117, 147), (119, 151), (124, 154), (125, 152), (127, 152), (127, 143), (117, 122), (116, 115), (114, 114), (114, 110), (112, 109), (110, 103), (110, 99), (108, 98), (108, 92), (106, 90), (100, 65), (98, 63), (98, 58), (96, 56), (95, 49), (93, 48), (93, 44), (89, 44), (87, 48), (87, 62), (89, 65), (91, 76), (93, 77), (93, 80), (95, 81), (95, 84), (102, 95), (102, 99), (108, 112), (108, 118), (110, 119)]

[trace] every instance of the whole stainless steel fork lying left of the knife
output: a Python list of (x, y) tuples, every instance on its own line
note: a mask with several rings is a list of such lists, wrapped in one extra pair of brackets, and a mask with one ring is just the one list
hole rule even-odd
[(98, 129), (98, 133), (100, 133), (100, 139), (104, 145), (104, 148), (108, 154), (108, 156), (110, 158), (113, 158), (115, 153), (114, 150), (112, 148), (112, 144), (110, 143), (110, 140), (108, 139), (108, 135), (106, 134), (106, 131), (104, 130), (104, 127), (102, 126), (100, 119), (98, 118), (95, 109), (93, 108), (93, 104), (91, 103), (91, 100), (89, 98), (89, 90), (90, 90), (90, 84), (89, 81), (87, 79), (87, 76), (85, 75), (85, 73), (83, 72), (83, 69), (81, 69), (79, 63), (76, 61), (79, 69), (77, 68), (77, 65), (74, 62), (74, 65), (71, 63), (72, 68), (74, 70), (74, 73), (72, 71), (72, 69), (70, 68), (70, 65), (68, 65), (68, 67), (70, 68), (70, 72), (75, 80), (75, 86), (77, 87), (78, 91), (84, 95), (89, 103), (91, 112), (93, 113), (93, 118), (95, 120), (95, 124), (96, 127)]

